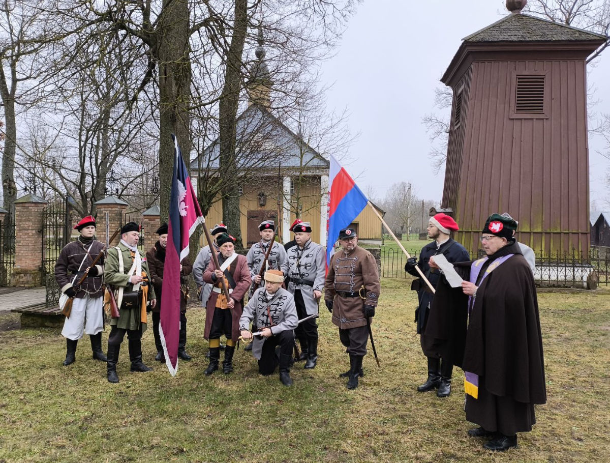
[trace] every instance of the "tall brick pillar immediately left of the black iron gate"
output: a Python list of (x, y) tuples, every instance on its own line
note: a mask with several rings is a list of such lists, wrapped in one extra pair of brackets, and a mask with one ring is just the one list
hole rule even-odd
[(35, 194), (15, 201), (15, 269), (11, 286), (33, 288), (42, 282), (43, 210), (47, 202)]

